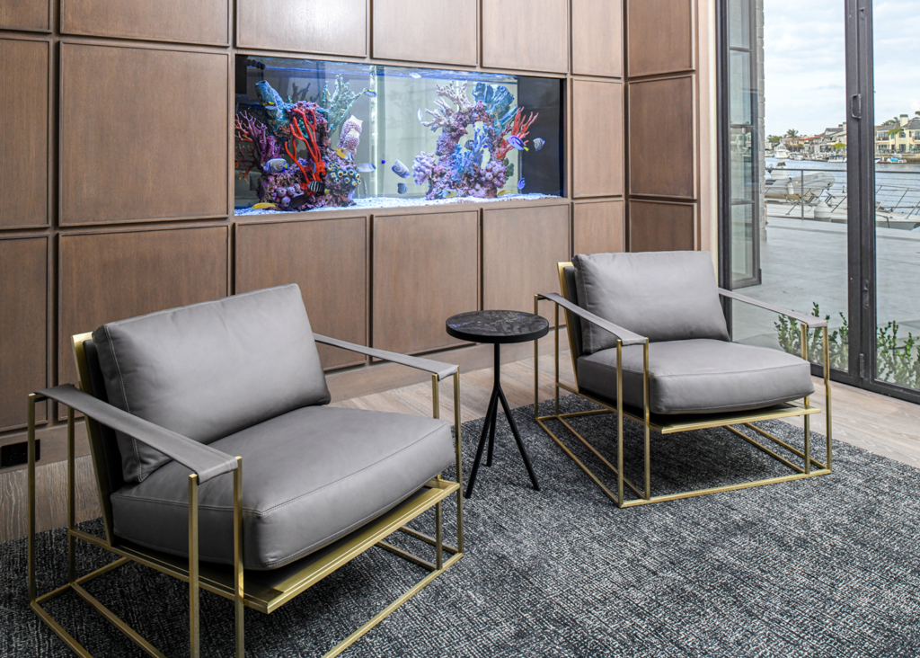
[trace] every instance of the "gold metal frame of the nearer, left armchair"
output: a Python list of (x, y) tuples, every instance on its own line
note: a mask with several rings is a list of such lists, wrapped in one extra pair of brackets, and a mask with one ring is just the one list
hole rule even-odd
[[(89, 386), (89, 367), (84, 351), (84, 341), (92, 338), (89, 333), (78, 334), (73, 337), (74, 353), (79, 374), (79, 388), (91, 394)], [(317, 337), (317, 341), (319, 337)], [(331, 340), (330, 340), (331, 342)], [(339, 347), (347, 343), (336, 341)], [(358, 346), (355, 346), (358, 347)], [(346, 348), (348, 349), (348, 348)], [(460, 371), (456, 369), (454, 378), (454, 448), (456, 452), (457, 481), (451, 482), (438, 476), (431, 479), (424, 487), (407, 501), (400, 503), (389, 513), (378, 517), (373, 523), (364, 525), (359, 530), (342, 537), (338, 541), (322, 548), (309, 556), (297, 560), (290, 565), (273, 571), (246, 571), (243, 568), (243, 526), (242, 526), (242, 458), (236, 457), (236, 470), (234, 471), (234, 562), (233, 565), (218, 565), (199, 563), (198, 560), (198, 487), (199, 477), (192, 473), (189, 476), (189, 559), (178, 558), (167, 553), (151, 548), (133, 544), (122, 540), (112, 532), (112, 515), (109, 504), (109, 479), (105, 469), (102, 454), (102, 439), (99, 425), (89, 416), (86, 416), (86, 430), (89, 437), (90, 454), (95, 466), (99, 505), (102, 510), (102, 521), (105, 527), (105, 538), (96, 537), (76, 528), (75, 518), (75, 411), (72, 407), (67, 409), (67, 583), (43, 595), (36, 591), (36, 560), (35, 560), (35, 405), (49, 397), (40, 393), (29, 395), (29, 607), (54, 633), (81, 658), (91, 658), (91, 654), (77, 642), (63, 627), (52, 618), (42, 607), (45, 603), (73, 591), (76, 595), (92, 606), (103, 618), (107, 619), (116, 629), (133, 641), (147, 655), (156, 658), (165, 658), (148, 641), (118, 618), (106, 606), (90, 595), (84, 585), (129, 562), (137, 562), (146, 567), (189, 583), (190, 601), (190, 655), (198, 658), (201, 650), (200, 619), (199, 619), (199, 594), (201, 589), (215, 595), (223, 596), (234, 602), (236, 615), (236, 658), (244, 658), (244, 608), (249, 607), (264, 614), (270, 614), (291, 601), (295, 596), (302, 594), (339, 569), (350, 560), (361, 555), (372, 547), (383, 548), (398, 557), (418, 565), (429, 571), (418, 583), (407, 592), (400, 595), (395, 601), (386, 606), (371, 618), (361, 628), (351, 633), (345, 640), (340, 641), (330, 651), (324, 654), (325, 658), (337, 656), (344, 652), (365, 633), (388, 617), (397, 607), (402, 606), (412, 596), (431, 583), (435, 578), (449, 569), (463, 553), (463, 488), (462, 462), (460, 452)], [(441, 377), (431, 375), (431, 393), (433, 403), (433, 417), (440, 418), (440, 395), (438, 384)], [(452, 493), (456, 494), (457, 504), (457, 542), (451, 546), (443, 541), (443, 514), (442, 502)], [(408, 524), (421, 514), (434, 508), (435, 535), (431, 537), (408, 526)], [(420, 542), (434, 548), (435, 561), (424, 560), (402, 548), (397, 548), (385, 541), (386, 537), (401, 532)], [(106, 566), (96, 571), (91, 571), (82, 576), (76, 574), (75, 540), (81, 539), (98, 548), (105, 548), (118, 556)], [(447, 553), (448, 556), (444, 556)], [(244, 587), (244, 581), (246, 586)]]

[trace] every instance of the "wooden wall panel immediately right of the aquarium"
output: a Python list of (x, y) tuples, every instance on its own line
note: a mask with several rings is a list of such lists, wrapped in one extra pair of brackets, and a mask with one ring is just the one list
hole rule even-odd
[(623, 85), (572, 82), (572, 192), (623, 194)]

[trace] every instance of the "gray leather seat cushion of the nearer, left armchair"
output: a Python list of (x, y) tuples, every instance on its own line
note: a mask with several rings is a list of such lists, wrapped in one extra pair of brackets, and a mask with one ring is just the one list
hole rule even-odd
[[(215, 441), (243, 457), (247, 569), (301, 558), (384, 514), (454, 464), (446, 422), (305, 407)], [(111, 497), (115, 534), (188, 555), (188, 468), (170, 462)], [(201, 484), (201, 560), (233, 560), (233, 475)]]

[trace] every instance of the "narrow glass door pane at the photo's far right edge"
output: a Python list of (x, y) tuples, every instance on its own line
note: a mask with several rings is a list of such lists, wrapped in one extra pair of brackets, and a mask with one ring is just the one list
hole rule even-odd
[[(866, 268), (868, 384), (920, 397), (920, 68), (904, 66), (916, 50), (916, 0), (876, 0), (868, 7), (873, 77), (871, 217)], [(867, 29), (868, 31), (868, 29)]]

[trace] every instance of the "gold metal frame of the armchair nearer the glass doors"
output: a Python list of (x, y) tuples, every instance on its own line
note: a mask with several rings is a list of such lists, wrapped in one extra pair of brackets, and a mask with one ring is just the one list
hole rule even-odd
[[(562, 291), (562, 297), (564, 300), (569, 299), (569, 287), (565, 278), (566, 268), (572, 267), (570, 262), (560, 262), (558, 263), (558, 273), (559, 273), (559, 286)], [(790, 312), (785, 309), (777, 308), (776, 306), (765, 305), (757, 300), (753, 300), (750, 297), (745, 297), (741, 294), (731, 293), (730, 291), (725, 291), (719, 289), (719, 294), (729, 297), (731, 299), (737, 299), (744, 303), (753, 304), (754, 306), (761, 306), (767, 310), (771, 310), (783, 315), (788, 315)], [(635, 507), (637, 505), (646, 505), (653, 502), (667, 502), (675, 501), (684, 498), (693, 498), (695, 496), (703, 496), (709, 493), (719, 493), (722, 491), (737, 491), (741, 489), (750, 489), (751, 487), (760, 487), (766, 484), (776, 484), (778, 482), (788, 482), (795, 479), (806, 479), (814, 478), (820, 475), (828, 475), (833, 470), (833, 449), (832, 449), (832, 430), (831, 430), (831, 379), (830, 379), (830, 359), (829, 359), (829, 347), (828, 347), (828, 328), (827, 323), (818, 317), (813, 317), (809, 319), (808, 317), (800, 316), (799, 314), (794, 314), (788, 317), (792, 317), (799, 321), (800, 324), (800, 341), (801, 341), (801, 356), (802, 359), (808, 361), (808, 329), (810, 327), (823, 328), (823, 364), (824, 364), (824, 396), (826, 401), (826, 410), (825, 418), (827, 419), (827, 458), (826, 464), (818, 461), (817, 459), (811, 456), (811, 415), (815, 413), (820, 413), (821, 409), (811, 405), (809, 397), (803, 398), (801, 403), (798, 402), (788, 402), (781, 405), (776, 405), (774, 407), (763, 409), (763, 410), (753, 410), (748, 412), (732, 412), (732, 413), (719, 413), (719, 414), (696, 414), (696, 415), (686, 415), (686, 416), (664, 416), (659, 414), (652, 414), (649, 409), (649, 340), (645, 339), (643, 346), (643, 378), (644, 378), (644, 401), (642, 409), (631, 409), (624, 407), (623, 405), (623, 396), (617, 395), (615, 402), (610, 400), (604, 400), (596, 396), (588, 395), (581, 391), (578, 386), (578, 364), (577, 364), (577, 351), (575, 337), (572, 335), (572, 327), (574, 326), (573, 318), (575, 317), (568, 309), (565, 310), (566, 313), (566, 332), (569, 336), (569, 352), (572, 359), (572, 372), (575, 375), (575, 386), (571, 387), (568, 384), (559, 381), (559, 302), (555, 299), (552, 299), (550, 296), (545, 294), (536, 294), (534, 296), (534, 313), (539, 312), (539, 303), (542, 300), (548, 300), (555, 302), (555, 312), (556, 312), (556, 326), (555, 326), (555, 356), (556, 356), (556, 376), (554, 382), (554, 391), (555, 391), (555, 413), (549, 414), (546, 416), (541, 416), (539, 413), (539, 402), (540, 402), (540, 369), (539, 369), (539, 349), (537, 342), (534, 342), (534, 418), (540, 427), (543, 428), (552, 439), (555, 441), (560, 448), (571, 457), (571, 459), (583, 470), (592, 481), (601, 488), (601, 491), (604, 491), (604, 494), (615, 502), (617, 507)], [(582, 322), (590, 321), (588, 319), (581, 319)], [(620, 391), (623, 389), (623, 346), (624, 343), (617, 337), (616, 341), (616, 390)], [(560, 413), (559, 410), (559, 390), (567, 391), (568, 393), (574, 394), (580, 398), (586, 399), (593, 404), (600, 407), (597, 410), (588, 410), (588, 411), (577, 411), (573, 413)], [(576, 418), (579, 416), (591, 416), (597, 414), (606, 414), (606, 413), (615, 413), (616, 415), (616, 465), (611, 464), (610, 461), (604, 457), (598, 450), (595, 448), (589, 441), (587, 441), (580, 433), (578, 433), (574, 427), (571, 426), (567, 419)], [(799, 450), (798, 448), (789, 445), (782, 439), (774, 436), (771, 433), (766, 432), (765, 430), (757, 427), (753, 423), (756, 421), (771, 421), (776, 419), (784, 418), (793, 418), (801, 417), (804, 424), (804, 450)], [(624, 476), (623, 472), (623, 419), (628, 418), (631, 421), (638, 422), (643, 426), (645, 430), (645, 475), (644, 483), (642, 487), (638, 487), (632, 481), (627, 479)], [(609, 468), (616, 477), (616, 491), (611, 491), (604, 482), (598, 478), (598, 476), (588, 468), (581, 459), (578, 458), (569, 447), (564, 444), (556, 433), (554, 433), (547, 425), (547, 421), (558, 421), (560, 422), (565, 429), (572, 433), (581, 444), (584, 444), (591, 452), (592, 455), (597, 457), (605, 467)], [(774, 444), (786, 450), (789, 454), (789, 458), (782, 456), (771, 448), (767, 447), (764, 444), (761, 444), (758, 441), (755, 441), (750, 436), (737, 430), (734, 425), (743, 425), (750, 430), (753, 430), (754, 433), (763, 436), (765, 439), (772, 441)], [(793, 472), (789, 475), (784, 475), (775, 478), (766, 478), (766, 479), (757, 479), (753, 481), (741, 482), (737, 484), (724, 485), (719, 487), (710, 487), (707, 489), (699, 489), (695, 491), (682, 491), (679, 493), (671, 493), (667, 495), (652, 496), (651, 495), (651, 462), (650, 462), (650, 433), (652, 430), (661, 434), (672, 434), (680, 432), (690, 432), (692, 430), (701, 430), (706, 428), (713, 427), (724, 427), (729, 430), (731, 433), (734, 433), (736, 436), (742, 438), (744, 441), (752, 444), (754, 447), (765, 452), (765, 454), (773, 457)], [(801, 465), (790, 461), (790, 459), (798, 458), (801, 461)], [(633, 491), (638, 498), (628, 499), (625, 496), (625, 487), (628, 487)]]

